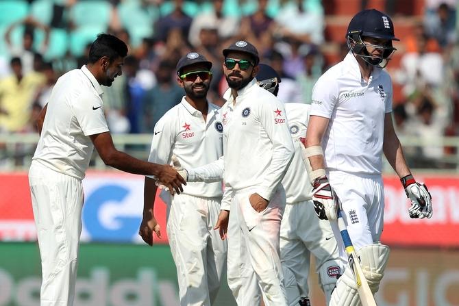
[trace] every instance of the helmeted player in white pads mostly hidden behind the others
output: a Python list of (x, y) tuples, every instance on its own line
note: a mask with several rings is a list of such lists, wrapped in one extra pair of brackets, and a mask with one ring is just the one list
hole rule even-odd
[[(269, 65), (260, 64), (256, 75), (260, 87), (277, 96), (280, 75)], [(308, 275), (310, 257), (316, 259), (316, 272), (325, 293), (326, 304), (343, 268), (330, 222), (317, 218), (312, 203), (312, 186), (303, 164), (302, 140), (306, 138), (310, 105), (285, 103), (295, 155), (282, 179), (286, 190), (286, 207), (280, 229), (280, 257), (289, 306), (310, 306)]]

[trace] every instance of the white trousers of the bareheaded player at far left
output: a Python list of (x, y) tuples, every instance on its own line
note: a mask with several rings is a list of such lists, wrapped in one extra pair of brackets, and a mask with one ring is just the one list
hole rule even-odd
[(82, 231), (82, 181), (32, 162), (29, 185), (42, 266), (40, 305), (71, 306)]

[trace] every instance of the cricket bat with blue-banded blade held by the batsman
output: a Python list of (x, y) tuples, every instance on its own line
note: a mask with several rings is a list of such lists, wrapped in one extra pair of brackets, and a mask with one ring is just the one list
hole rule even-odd
[(367, 279), (365, 279), (365, 276), (363, 275), (362, 267), (360, 266), (360, 259), (356, 254), (356, 250), (353, 248), (349, 233), (347, 233), (347, 227), (343, 220), (341, 211), (338, 212), (338, 229), (340, 230), (341, 238), (343, 238), (343, 242), (345, 244), (347, 262), (349, 262), (349, 267), (351, 267), (354, 279), (356, 280), (357, 291), (362, 306), (377, 306), (373, 293), (367, 283)]

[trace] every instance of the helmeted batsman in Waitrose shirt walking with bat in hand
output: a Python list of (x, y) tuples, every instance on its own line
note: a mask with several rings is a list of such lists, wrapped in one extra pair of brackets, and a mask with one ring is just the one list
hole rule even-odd
[(336, 224), (339, 210), (373, 294), (384, 275), (389, 248), (380, 243), (382, 153), (410, 199), (410, 217), (432, 217), (431, 196), (425, 185), (414, 180), (393, 127), (392, 81), (382, 69), (395, 51), (393, 40), (398, 40), (393, 23), (382, 12), (363, 10), (353, 16), (346, 38), (349, 53), (314, 86), (303, 151), (314, 209), (319, 218), (332, 221), (346, 263), (332, 293), (332, 306), (360, 305)]

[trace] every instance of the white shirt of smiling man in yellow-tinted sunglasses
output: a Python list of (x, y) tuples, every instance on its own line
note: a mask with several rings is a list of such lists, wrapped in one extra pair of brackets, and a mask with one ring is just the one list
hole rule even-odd
[[(207, 122), (202, 113), (185, 99), (171, 108), (155, 125), (149, 162), (171, 163), (177, 156), (183, 168), (196, 168), (223, 155), (223, 125), (219, 107), (209, 103)], [(201, 197), (222, 196), (221, 181), (187, 183), (184, 194)]]

